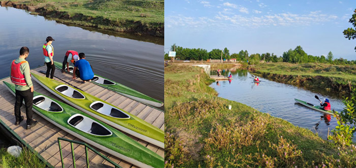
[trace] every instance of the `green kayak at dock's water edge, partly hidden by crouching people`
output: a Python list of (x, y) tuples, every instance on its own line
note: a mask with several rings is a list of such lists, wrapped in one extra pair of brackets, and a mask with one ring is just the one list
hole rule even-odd
[[(54, 62), (54, 65), (57, 69), (60, 69), (62, 70), (62, 63), (60, 62), (57, 62), (57, 61), (53, 61)], [(73, 74), (73, 66), (69, 66), (69, 71), (70, 71), (70, 74)], [(66, 72), (67, 72), (67, 69), (66, 69)], [(161, 107), (163, 106), (163, 103), (160, 102), (159, 100), (156, 100), (150, 96), (147, 96), (145, 94), (142, 94), (134, 89), (131, 89), (125, 85), (122, 85), (120, 83), (117, 83), (117, 82), (114, 82), (114, 81), (111, 81), (109, 79), (106, 79), (102, 76), (99, 76), (99, 75), (94, 75), (94, 78), (92, 79), (92, 82), (99, 85), (99, 86), (102, 86), (104, 88), (107, 88), (109, 90), (112, 90), (112, 91), (115, 91), (119, 94), (122, 94), (126, 97), (129, 97), (131, 99), (134, 99), (138, 102), (142, 102), (144, 104), (147, 104), (147, 105), (151, 105), (151, 106), (155, 106), (155, 107)]]

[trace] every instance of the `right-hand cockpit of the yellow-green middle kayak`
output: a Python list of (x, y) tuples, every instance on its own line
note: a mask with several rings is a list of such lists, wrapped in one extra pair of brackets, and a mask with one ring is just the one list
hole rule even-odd
[(93, 102), (90, 105), (90, 108), (109, 117), (114, 117), (117, 119), (130, 119), (130, 116), (127, 115), (122, 110), (119, 110), (111, 105), (108, 105), (100, 101)]

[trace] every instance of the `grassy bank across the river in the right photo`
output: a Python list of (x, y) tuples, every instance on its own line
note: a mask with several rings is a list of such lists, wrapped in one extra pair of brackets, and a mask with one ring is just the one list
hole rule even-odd
[(349, 93), (356, 86), (356, 65), (323, 63), (260, 63), (249, 68), (252, 73), (273, 81), (307, 89)]

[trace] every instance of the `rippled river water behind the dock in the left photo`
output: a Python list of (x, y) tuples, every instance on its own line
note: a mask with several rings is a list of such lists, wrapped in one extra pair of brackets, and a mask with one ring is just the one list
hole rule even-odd
[(163, 102), (163, 38), (87, 29), (0, 7), (0, 79), (9, 76), (10, 63), (22, 46), (29, 48), (32, 69), (43, 65), (42, 45), (51, 36), (55, 61), (62, 62), (67, 50), (83, 52), (96, 74)]

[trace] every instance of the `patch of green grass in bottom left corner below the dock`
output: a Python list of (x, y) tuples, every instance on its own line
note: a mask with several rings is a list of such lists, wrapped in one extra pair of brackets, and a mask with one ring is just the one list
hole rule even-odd
[(23, 148), (17, 158), (10, 155), (6, 148), (1, 148), (0, 167), (46, 167), (46, 164), (27, 148)]

